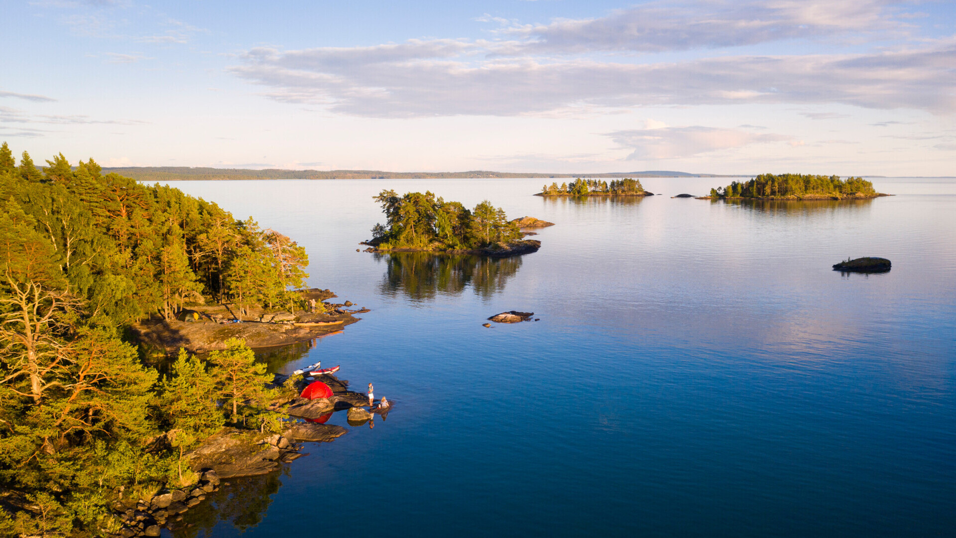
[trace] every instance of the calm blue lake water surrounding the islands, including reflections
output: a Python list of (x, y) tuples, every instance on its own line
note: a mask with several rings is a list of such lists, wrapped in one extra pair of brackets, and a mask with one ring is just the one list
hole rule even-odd
[[(952, 536), (956, 180), (860, 202), (543, 199), (543, 180), (176, 182), (371, 312), (273, 355), (396, 402), (175, 536)], [(550, 181), (548, 182), (550, 183)], [(382, 189), (555, 226), (521, 258), (357, 253)], [(848, 257), (890, 258), (842, 275)], [(539, 322), (482, 326), (503, 310)], [(291, 357), (288, 363), (282, 360)], [(166, 532), (166, 531), (164, 531)]]

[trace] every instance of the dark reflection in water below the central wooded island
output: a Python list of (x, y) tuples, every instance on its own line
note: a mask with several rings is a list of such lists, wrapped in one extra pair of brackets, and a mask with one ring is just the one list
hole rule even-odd
[(383, 294), (423, 301), (438, 294), (461, 294), (470, 285), (484, 299), (505, 289), (518, 272), (521, 258), (488, 258), (473, 255), (435, 255), (424, 252), (375, 255), (387, 267)]

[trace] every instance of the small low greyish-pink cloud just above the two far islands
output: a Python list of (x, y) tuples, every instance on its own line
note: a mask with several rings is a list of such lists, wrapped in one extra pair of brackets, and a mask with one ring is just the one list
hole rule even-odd
[(628, 160), (685, 159), (709, 151), (793, 139), (786, 135), (701, 125), (631, 129), (607, 133), (607, 136), (619, 146), (632, 149)]

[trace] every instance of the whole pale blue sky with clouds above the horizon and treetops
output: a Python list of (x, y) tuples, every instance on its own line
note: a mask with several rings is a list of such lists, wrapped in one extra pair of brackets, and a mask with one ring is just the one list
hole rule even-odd
[(107, 167), (956, 175), (956, 1), (3, 2), (0, 141)]

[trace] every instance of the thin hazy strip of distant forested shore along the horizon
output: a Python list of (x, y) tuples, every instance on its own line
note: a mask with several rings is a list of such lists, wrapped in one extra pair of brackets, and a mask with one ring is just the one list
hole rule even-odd
[(470, 170), (464, 172), (391, 172), (383, 170), (289, 170), (268, 168), (191, 168), (191, 167), (126, 167), (103, 168), (137, 181), (216, 181), (235, 179), (516, 179), (516, 178), (618, 178), (618, 177), (733, 177), (729, 175), (687, 173), (669, 170), (608, 173), (539, 173)]

